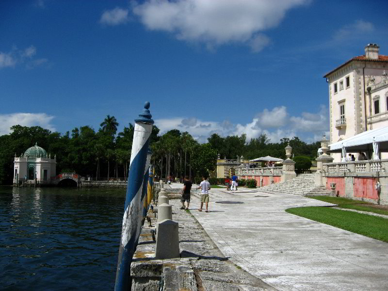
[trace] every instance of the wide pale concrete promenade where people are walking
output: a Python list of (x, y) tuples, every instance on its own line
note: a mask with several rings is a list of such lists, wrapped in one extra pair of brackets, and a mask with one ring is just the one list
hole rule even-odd
[(226, 257), (276, 289), (388, 290), (388, 243), (284, 211), (330, 203), (246, 188), (211, 192), (210, 213), (192, 197), (194, 217)]

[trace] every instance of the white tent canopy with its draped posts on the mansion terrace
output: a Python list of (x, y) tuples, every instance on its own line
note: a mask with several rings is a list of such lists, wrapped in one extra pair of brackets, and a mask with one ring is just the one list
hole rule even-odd
[(370, 151), (373, 149), (374, 159), (378, 159), (381, 150), (388, 150), (388, 127), (371, 129), (329, 145), (330, 152)]

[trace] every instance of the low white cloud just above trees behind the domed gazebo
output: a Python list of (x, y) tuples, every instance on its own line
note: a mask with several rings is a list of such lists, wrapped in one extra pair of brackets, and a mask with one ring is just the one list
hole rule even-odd
[(0, 135), (11, 132), (10, 128), (13, 125), (21, 126), (40, 126), (44, 129), (55, 131), (51, 124), (54, 116), (46, 113), (10, 113), (0, 114)]

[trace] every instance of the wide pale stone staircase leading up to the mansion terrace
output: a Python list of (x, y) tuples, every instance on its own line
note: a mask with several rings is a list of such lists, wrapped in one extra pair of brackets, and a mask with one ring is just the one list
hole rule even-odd
[(324, 186), (318, 186), (314, 182), (315, 174), (300, 174), (296, 178), (291, 180), (271, 184), (268, 186), (258, 188), (259, 191), (270, 191), (270, 192), (279, 192), (279, 193), (288, 193), (296, 195), (322, 195), (330, 196), (333, 193), (326, 189)]

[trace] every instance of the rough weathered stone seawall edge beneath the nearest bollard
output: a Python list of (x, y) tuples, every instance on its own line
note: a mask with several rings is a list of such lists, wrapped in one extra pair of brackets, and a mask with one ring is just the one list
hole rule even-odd
[(251, 275), (227, 259), (211, 241), (208, 234), (185, 210), (180, 210), (180, 200), (169, 201), (173, 220), (179, 227), (181, 258), (157, 260), (155, 242), (150, 233), (154, 229), (146, 222), (131, 265), (132, 290), (159, 290), (161, 268), (164, 288), (171, 291), (276, 291), (267, 283)]

